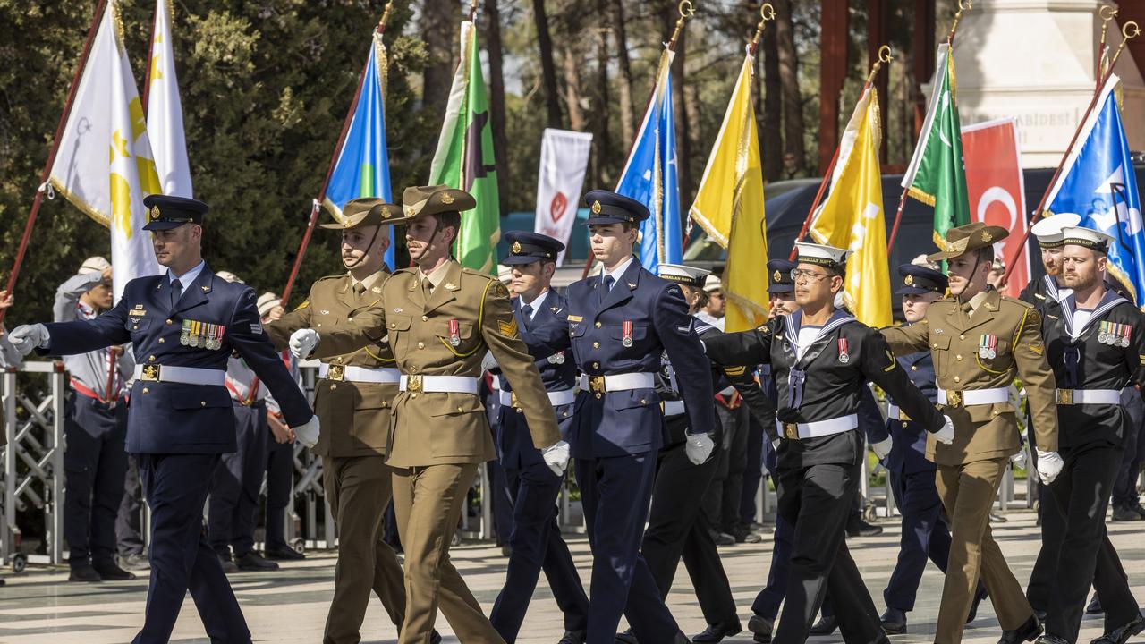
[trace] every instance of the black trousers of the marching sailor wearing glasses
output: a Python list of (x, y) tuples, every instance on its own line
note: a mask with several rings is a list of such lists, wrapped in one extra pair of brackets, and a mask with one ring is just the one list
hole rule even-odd
[(781, 465), (779, 513), (795, 526), (795, 533), (787, 597), (774, 642), (805, 642), (827, 592), (844, 642), (886, 642), (878, 611), (844, 539), (860, 476), (858, 462)]

